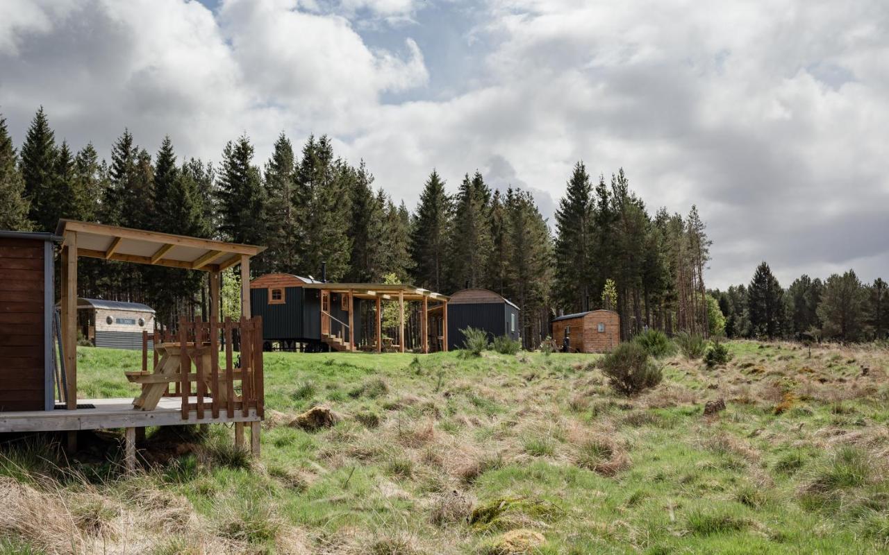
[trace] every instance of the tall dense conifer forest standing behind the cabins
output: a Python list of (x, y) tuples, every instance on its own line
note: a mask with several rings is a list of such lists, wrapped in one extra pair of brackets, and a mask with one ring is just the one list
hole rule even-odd
[[(43, 107), (17, 151), (0, 116), (0, 228), (52, 231), (59, 218), (267, 245), (254, 275), (319, 278), (324, 262), (330, 281), (394, 274), (445, 294), (492, 289), (521, 309), (525, 346), (549, 335), (554, 315), (603, 307), (621, 314), (623, 337), (713, 328), (703, 281), (710, 242), (697, 209), (652, 213), (622, 169), (594, 182), (582, 162), (551, 230), (530, 192), (494, 189), (478, 171), (450, 194), (432, 170), (408, 210), (326, 136), (297, 149), (282, 133), (260, 166), (245, 135), (213, 164), (180, 159), (169, 138), (152, 154), (124, 130), (105, 161), (92, 144), (59, 144)], [(87, 258), (78, 287), (84, 297), (148, 302), (172, 321), (205, 308), (201, 277)]]

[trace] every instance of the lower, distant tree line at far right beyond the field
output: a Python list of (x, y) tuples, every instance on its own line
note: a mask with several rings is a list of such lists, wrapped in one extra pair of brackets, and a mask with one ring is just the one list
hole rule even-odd
[(882, 278), (863, 283), (853, 270), (826, 280), (802, 275), (781, 287), (762, 262), (749, 285), (711, 291), (728, 337), (867, 341), (889, 337), (889, 289)]

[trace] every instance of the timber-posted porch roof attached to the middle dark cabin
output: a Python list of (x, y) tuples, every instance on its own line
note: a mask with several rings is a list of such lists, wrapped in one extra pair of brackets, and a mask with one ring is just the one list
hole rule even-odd
[[(306, 283), (302, 285), (305, 289), (320, 289), (322, 296), (329, 295), (330, 293), (339, 293), (341, 295), (348, 295), (349, 299), (352, 298), (364, 298), (364, 299), (372, 299), (376, 301), (376, 344), (377, 344), (377, 353), (382, 351), (382, 316), (381, 316), (381, 304), (382, 301), (397, 301), (398, 302), (398, 344), (399, 351), (404, 353), (404, 301), (419, 301), (422, 303), (422, 318), (420, 320), (420, 337), (422, 337), (422, 348), (423, 353), (429, 352), (428, 345), (428, 317), (429, 313), (433, 313), (436, 311), (442, 311), (442, 321), (443, 321), (443, 334), (444, 334), (444, 342), (443, 348), (447, 351), (447, 302), (448, 297), (446, 295), (442, 295), (441, 293), (436, 293), (434, 291), (430, 291), (428, 289), (422, 289), (420, 287), (414, 287), (413, 285), (407, 285), (402, 283)], [(429, 306), (429, 301), (436, 303), (435, 305)], [(322, 302), (323, 304), (323, 302)], [(354, 328), (354, 319), (355, 314), (352, 309), (352, 303), (348, 303), (348, 329), (352, 330)], [(329, 316), (329, 314), (328, 314)], [(322, 313), (322, 317), (324, 317), (324, 313)], [(355, 339), (352, 337), (351, 333), (349, 335), (349, 341), (354, 345)]]

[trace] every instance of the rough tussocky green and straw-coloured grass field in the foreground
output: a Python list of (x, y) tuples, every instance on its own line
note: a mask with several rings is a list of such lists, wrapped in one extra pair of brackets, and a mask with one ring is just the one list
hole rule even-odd
[[(222, 426), (133, 477), (113, 441), (68, 464), (6, 446), (0, 552), (889, 549), (889, 353), (729, 346), (722, 368), (659, 361), (631, 399), (591, 355), (268, 353), (259, 461)], [(138, 353), (77, 356), (81, 396), (134, 392)], [(319, 404), (337, 424), (289, 425)]]

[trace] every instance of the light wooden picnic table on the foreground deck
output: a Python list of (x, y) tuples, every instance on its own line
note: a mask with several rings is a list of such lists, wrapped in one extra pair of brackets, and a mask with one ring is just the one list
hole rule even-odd
[[(191, 367), (192, 363), (198, 364), (196, 357), (200, 357), (201, 374), (204, 376), (204, 391), (208, 392), (209, 396), (219, 399), (220, 402), (228, 400), (228, 373), (224, 371), (219, 373), (218, 391), (214, 389), (211, 379), (211, 357), (213, 355), (219, 356), (219, 354), (213, 352), (209, 343), (201, 343), (199, 345), (187, 343), (186, 345), (188, 350), (186, 356), (192, 359), (188, 363), (188, 368)], [(142, 385), (142, 392), (139, 397), (132, 400), (132, 406), (140, 410), (153, 410), (156, 408), (157, 403), (164, 397), (164, 393), (167, 392), (170, 384), (178, 384), (181, 381), (182, 345), (177, 342), (160, 343), (155, 345), (155, 350), (160, 358), (153, 372), (126, 372), (126, 378), (131, 383)], [(233, 371), (233, 374), (235, 379), (240, 379), (240, 370)], [(196, 380), (197, 373), (189, 373), (188, 381), (193, 382)], [(182, 392), (185, 395), (188, 395), (188, 393)]]

